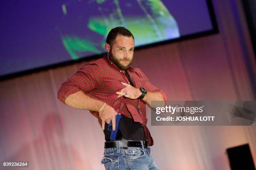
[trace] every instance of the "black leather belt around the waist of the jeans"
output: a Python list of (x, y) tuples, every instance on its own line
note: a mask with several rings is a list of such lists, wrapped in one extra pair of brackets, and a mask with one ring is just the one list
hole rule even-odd
[[(148, 147), (148, 140), (143, 141), (144, 147)], [(104, 148), (117, 147), (117, 141), (105, 142)], [(119, 140), (119, 147), (142, 147), (141, 141)]]

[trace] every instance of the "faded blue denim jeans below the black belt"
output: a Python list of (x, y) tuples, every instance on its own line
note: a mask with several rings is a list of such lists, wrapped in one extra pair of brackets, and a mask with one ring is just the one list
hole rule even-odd
[(106, 170), (158, 170), (150, 147), (105, 148), (101, 164)]

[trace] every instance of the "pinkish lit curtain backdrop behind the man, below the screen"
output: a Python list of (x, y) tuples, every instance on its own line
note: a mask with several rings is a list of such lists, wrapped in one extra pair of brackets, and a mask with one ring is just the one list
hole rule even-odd
[[(255, 60), (241, 4), (213, 3), (220, 34), (135, 51), (133, 66), (170, 100), (255, 100)], [(104, 169), (97, 119), (56, 96), (85, 63), (0, 82), (1, 161), (28, 160), (27, 170)], [(256, 161), (256, 127), (153, 127), (149, 108), (147, 114), (160, 170), (227, 170), (226, 148), (245, 143)]]

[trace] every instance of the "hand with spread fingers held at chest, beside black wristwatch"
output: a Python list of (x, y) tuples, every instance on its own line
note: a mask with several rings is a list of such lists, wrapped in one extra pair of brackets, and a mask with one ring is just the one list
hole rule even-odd
[(123, 88), (120, 92), (115, 92), (116, 94), (119, 94), (118, 97), (125, 96), (130, 99), (137, 99), (139, 96), (141, 96), (142, 92), (140, 91), (140, 89), (135, 88), (127, 83), (121, 83), (125, 86), (125, 88)]

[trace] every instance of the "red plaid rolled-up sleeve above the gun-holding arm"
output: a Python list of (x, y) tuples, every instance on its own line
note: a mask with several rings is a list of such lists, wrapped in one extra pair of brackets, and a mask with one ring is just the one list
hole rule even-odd
[(57, 97), (66, 104), (67, 96), (77, 91), (83, 91), (85, 94), (92, 91), (100, 79), (100, 67), (96, 63), (87, 63), (61, 85)]

